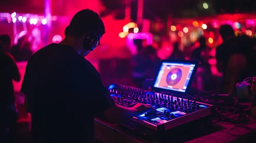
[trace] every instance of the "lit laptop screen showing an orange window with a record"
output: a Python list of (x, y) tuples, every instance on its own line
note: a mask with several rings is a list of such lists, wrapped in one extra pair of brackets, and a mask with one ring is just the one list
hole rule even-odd
[(185, 92), (189, 86), (196, 64), (191, 62), (162, 62), (154, 80), (153, 87), (178, 92)]

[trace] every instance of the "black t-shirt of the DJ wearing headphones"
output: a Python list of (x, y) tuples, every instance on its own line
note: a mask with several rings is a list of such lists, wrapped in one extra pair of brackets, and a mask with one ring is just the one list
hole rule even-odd
[(94, 116), (113, 104), (95, 67), (71, 46), (54, 43), (29, 59), (21, 92), (33, 142), (93, 142)]

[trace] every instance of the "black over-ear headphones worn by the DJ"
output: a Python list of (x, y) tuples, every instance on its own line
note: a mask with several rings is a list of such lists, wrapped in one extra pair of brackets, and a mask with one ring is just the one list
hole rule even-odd
[[(96, 12), (94, 12), (95, 14), (97, 14)], [(83, 47), (86, 50), (89, 51), (93, 51), (97, 46), (101, 45), (100, 44), (100, 16), (97, 14), (97, 16), (99, 17), (99, 26), (98, 26), (98, 31), (96, 31), (95, 33), (89, 33), (87, 35), (87, 37), (84, 39), (84, 43), (83, 43)], [(67, 26), (67, 28), (65, 29), (65, 36), (68, 35), (68, 31), (69, 31), (69, 26)]]

